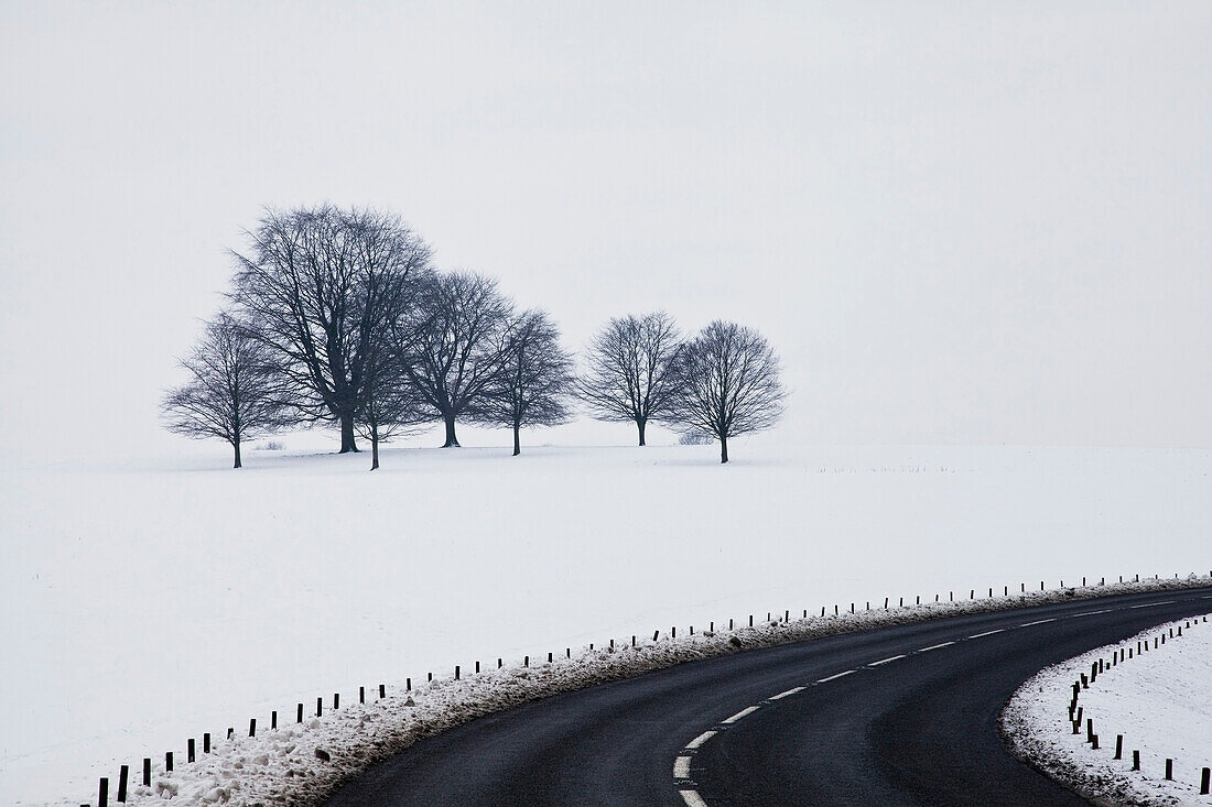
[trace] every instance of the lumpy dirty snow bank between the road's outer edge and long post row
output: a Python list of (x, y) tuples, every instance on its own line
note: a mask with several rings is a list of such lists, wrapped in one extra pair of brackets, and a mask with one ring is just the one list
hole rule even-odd
[[(326, 710), (322, 717), (308, 717), (303, 723), (262, 731), (257, 737), (222, 739), (211, 754), (200, 754), (198, 762), (182, 763), (178, 757), (176, 769), (171, 772), (165, 771), (164, 760), (156, 760), (150, 786), (141, 784), (141, 771), (132, 767), (128, 801), (150, 803), (172, 799), (178, 805), (319, 803), (342, 780), (423, 737), (531, 700), (684, 662), (965, 613), (1210, 584), (1212, 579), (1208, 577), (1191, 574), (1185, 580), (1142, 580), (853, 614), (812, 616), (789, 622), (771, 620), (731, 631), (682, 634), (676, 639), (662, 635), (657, 641), (640, 641), (636, 647), (628, 643), (585, 649), (573, 658), (492, 669), (461, 680), (438, 679), (411, 692), (405, 692), (404, 686), (393, 686), (389, 687), (390, 694), (383, 699)], [(1212, 628), (1208, 631), (1212, 633)], [(368, 693), (368, 697), (375, 694)], [(288, 715), (287, 719), (293, 717)], [(112, 782), (116, 784), (116, 778)]]

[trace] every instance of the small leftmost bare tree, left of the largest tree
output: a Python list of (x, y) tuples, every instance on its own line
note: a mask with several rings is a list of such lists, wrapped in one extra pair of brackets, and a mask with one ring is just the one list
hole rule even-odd
[(165, 394), (165, 428), (187, 437), (227, 440), (235, 453), (233, 468), (240, 468), (241, 441), (280, 424), (273, 355), (244, 325), (219, 314), (181, 366), (190, 377)]

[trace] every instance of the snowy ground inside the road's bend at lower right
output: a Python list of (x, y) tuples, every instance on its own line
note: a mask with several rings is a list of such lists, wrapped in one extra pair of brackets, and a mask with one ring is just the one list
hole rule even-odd
[[(1002, 731), (1021, 759), (1096, 803), (1212, 805), (1212, 796), (1200, 795), (1202, 768), (1212, 766), (1210, 681), (1212, 623), (1206, 616), (1167, 622), (1035, 675), (1011, 698)], [(1069, 717), (1075, 683), (1076, 734)], [(1133, 751), (1139, 771), (1132, 769)], [(1167, 759), (1172, 780), (1165, 778)]]

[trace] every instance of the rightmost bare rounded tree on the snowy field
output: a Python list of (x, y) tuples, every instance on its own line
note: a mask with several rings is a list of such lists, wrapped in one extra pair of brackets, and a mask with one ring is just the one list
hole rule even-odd
[(728, 437), (768, 429), (783, 413), (778, 356), (753, 328), (711, 322), (682, 345), (675, 368), (668, 419), (719, 440), (721, 463), (728, 462)]

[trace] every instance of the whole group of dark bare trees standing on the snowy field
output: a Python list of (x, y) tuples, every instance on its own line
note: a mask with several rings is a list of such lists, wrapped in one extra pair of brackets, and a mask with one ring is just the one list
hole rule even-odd
[(516, 311), (492, 279), (441, 271), (398, 217), (333, 206), (268, 211), (234, 252), (229, 305), (181, 364), (188, 380), (162, 402), (166, 427), (242, 441), (330, 423), (341, 451), (441, 420), (513, 429), (556, 425), (574, 401), (593, 417), (658, 422), (720, 441), (772, 425), (785, 396), (778, 359), (756, 331), (716, 321), (682, 339), (663, 313), (611, 320), (579, 376), (541, 309)]

